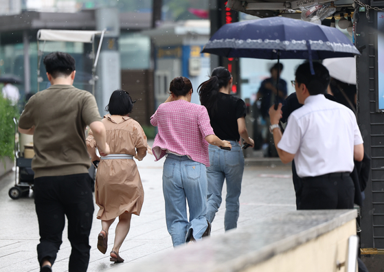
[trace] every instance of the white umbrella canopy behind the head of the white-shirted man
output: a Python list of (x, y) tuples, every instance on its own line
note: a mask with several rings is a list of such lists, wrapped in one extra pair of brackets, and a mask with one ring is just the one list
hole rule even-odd
[(356, 60), (354, 58), (327, 58), (323, 65), (330, 76), (341, 82), (356, 85)]

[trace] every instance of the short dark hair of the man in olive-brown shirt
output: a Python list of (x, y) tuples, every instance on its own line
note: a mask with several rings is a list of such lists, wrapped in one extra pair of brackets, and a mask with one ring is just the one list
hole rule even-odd
[(73, 71), (75, 71), (75, 59), (63, 52), (52, 52), (45, 56), (43, 63), (45, 65), (45, 70), (53, 78), (59, 76), (69, 76)]

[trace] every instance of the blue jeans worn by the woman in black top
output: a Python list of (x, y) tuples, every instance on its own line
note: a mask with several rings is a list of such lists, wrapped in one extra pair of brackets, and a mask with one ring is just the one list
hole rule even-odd
[(210, 167), (207, 168), (207, 220), (212, 223), (221, 205), (221, 191), (224, 179), (227, 182), (225, 197), (225, 230), (237, 227), (241, 193), (242, 172), (244, 172), (244, 155), (237, 141), (230, 141), (232, 149), (223, 150), (210, 145)]

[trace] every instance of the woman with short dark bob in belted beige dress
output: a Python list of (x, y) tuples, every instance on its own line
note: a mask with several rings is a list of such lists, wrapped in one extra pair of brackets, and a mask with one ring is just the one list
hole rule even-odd
[(98, 157), (92, 131), (87, 137), (87, 148), (92, 161), (100, 161), (95, 182), (95, 201), (100, 207), (97, 218), (102, 220), (98, 235), (98, 249), (106, 253), (109, 227), (119, 217), (115, 230), (115, 242), (111, 262), (124, 262), (119, 249), (131, 225), (131, 215), (140, 214), (144, 190), (133, 157), (141, 161), (146, 156), (147, 140), (142, 126), (128, 117), (133, 108), (131, 96), (124, 90), (114, 91), (102, 120), (106, 128), (106, 142), (110, 155)]

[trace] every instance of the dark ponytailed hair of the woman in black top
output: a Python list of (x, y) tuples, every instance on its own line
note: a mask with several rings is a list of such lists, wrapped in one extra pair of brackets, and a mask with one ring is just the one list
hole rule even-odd
[(208, 113), (214, 115), (217, 111), (217, 95), (221, 87), (226, 87), (231, 80), (231, 73), (225, 67), (213, 69), (210, 79), (201, 83), (197, 91), (200, 95), (200, 102)]

